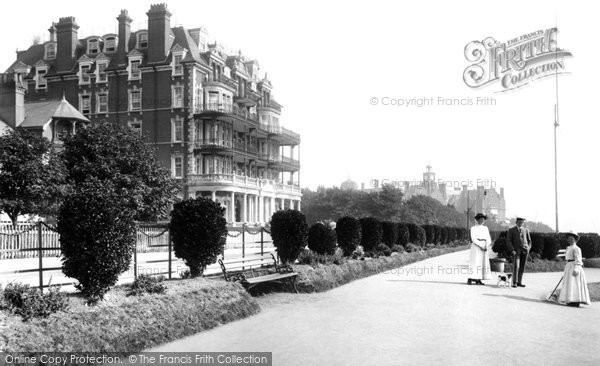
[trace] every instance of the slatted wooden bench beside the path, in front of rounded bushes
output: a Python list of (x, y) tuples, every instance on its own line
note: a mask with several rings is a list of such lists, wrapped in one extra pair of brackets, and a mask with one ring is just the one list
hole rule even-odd
[[(247, 291), (256, 285), (267, 282), (289, 283), (296, 293), (296, 277), (292, 266), (280, 266), (273, 253), (261, 256), (239, 258), (223, 261), (219, 259), (219, 265), (223, 271), (223, 277), (228, 282), (239, 282)], [(260, 274), (258, 269), (269, 270), (275, 268), (274, 273)]]

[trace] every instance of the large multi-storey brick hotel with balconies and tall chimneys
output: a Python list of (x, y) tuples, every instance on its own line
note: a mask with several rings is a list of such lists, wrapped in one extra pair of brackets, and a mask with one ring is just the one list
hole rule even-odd
[[(60, 18), (6, 74), (24, 86), (26, 104), (64, 96), (92, 123), (144, 134), (181, 181), (181, 196), (211, 197), (230, 222), (299, 209), (300, 136), (281, 126), (257, 61), (209, 44), (203, 28), (171, 27), (165, 4), (147, 16), (148, 29), (132, 30), (122, 10), (117, 34), (85, 38), (73, 17)], [(69, 131), (59, 121), (51, 138), (60, 143)]]

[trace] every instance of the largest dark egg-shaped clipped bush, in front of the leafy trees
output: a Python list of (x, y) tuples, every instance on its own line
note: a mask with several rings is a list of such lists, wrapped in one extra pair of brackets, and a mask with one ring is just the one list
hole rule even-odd
[(135, 250), (133, 210), (108, 182), (85, 182), (63, 201), (56, 230), (62, 270), (79, 283), (90, 302), (101, 300), (119, 274), (129, 269)]

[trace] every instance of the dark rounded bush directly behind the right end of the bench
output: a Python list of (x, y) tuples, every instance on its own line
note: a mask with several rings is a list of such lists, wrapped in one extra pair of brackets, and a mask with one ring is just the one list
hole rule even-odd
[(277, 211), (271, 217), (271, 238), (283, 263), (293, 263), (306, 246), (306, 217), (297, 210)]

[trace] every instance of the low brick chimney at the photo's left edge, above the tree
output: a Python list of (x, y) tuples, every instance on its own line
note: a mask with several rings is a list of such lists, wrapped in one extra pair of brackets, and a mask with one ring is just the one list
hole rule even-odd
[(0, 74), (0, 118), (15, 128), (25, 120), (25, 84), (16, 73)]

